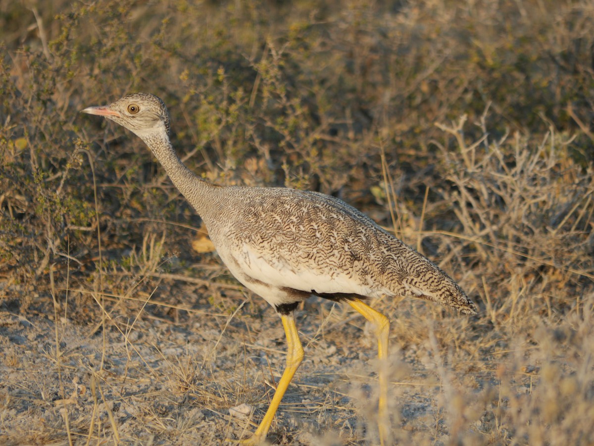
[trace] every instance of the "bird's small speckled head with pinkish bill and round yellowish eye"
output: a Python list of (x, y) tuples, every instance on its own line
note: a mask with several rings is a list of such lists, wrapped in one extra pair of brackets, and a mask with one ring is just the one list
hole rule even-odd
[(169, 112), (163, 101), (154, 95), (135, 93), (110, 105), (87, 107), (81, 112), (106, 117), (145, 142), (160, 136), (169, 138)]

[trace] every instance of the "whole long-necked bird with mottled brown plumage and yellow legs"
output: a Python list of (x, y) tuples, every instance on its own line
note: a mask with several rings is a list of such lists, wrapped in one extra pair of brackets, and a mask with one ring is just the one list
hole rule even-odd
[[(81, 112), (99, 115), (140, 137), (207, 227), (220, 259), (248, 290), (276, 310), (285, 329), (286, 366), (258, 428), (242, 444), (266, 441), (280, 401), (303, 358), (295, 324), (298, 304), (312, 295), (349, 304), (374, 329), (386, 363), (390, 321), (374, 298), (418, 297), (476, 314), (460, 286), (427, 257), (336, 197), (286, 187), (220, 186), (194, 174), (170, 141), (165, 103), (135, 93)], [(378, 370), (378, 434), (389, 441), (388, 381)]]

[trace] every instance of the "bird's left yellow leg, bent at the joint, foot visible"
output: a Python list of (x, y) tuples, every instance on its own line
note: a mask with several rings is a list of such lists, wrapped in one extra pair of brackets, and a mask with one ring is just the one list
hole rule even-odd
[(279, 384), (276, 386), (276, 392), (274, 392), (274, 397), (270, 402), (270, 406), (268, 407), (260, 426), (258, 426), (258, 429), (254, 432), (254, 435), (241, 441), (242, 444), (257, 445), (264, 441), (266, 434), (268, 434), (268, 429), (270, 429), (270, 425), (272, 424), (272, 420), (274, 419), (274, 414), (276, 414), (276, 410), (279, 409), (280, 400), (283, 399), (283, 395), (285, 395), (285, 391), (287, 390), (287, 387), (289, 387), (293, 375), (295, 375), (295, 372), (303, 360), (303, 347), (301, 347), (301, 341), (299, 341), (299, 334), (297, 333), (293, 313), (282, 315), (280, 318), (283, 321), (285, 335), (287, 337), (287, 366), (285, 372), (283, 372), (283, 376), (280, 378)]

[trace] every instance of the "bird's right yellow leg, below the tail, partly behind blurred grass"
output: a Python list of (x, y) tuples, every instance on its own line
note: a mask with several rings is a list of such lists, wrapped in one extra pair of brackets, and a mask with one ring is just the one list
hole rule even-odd
[(390, 335), (390, 320), (382, 313), (375, 311), (369, 305), (359, 299), (349, 300), (350, 306), (363, 315), (374, 326), (375, 337), (378, 344), (378, 358), (380, 369), (378, 379), (380, 381), (380, 403), (378, 407), (378, 429), (380, 432), (380, 444), (384, 446), (388, 441), (388, 426), (390, 419), (387, 413), (388, 377), (386, 376), (388, 357), (388, 336)]

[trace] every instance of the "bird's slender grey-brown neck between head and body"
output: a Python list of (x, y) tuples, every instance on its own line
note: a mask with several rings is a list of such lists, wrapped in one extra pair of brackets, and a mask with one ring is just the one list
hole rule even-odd
[(153, 134), (143, 137), (143, 140), (171, 178), (173, 186), (182, 193), (198, 215), (206, 217), (204, 214), (211, 212), (213, 206), (219, 202), (216, 195), (220, 187), (198, 178), (188, 169), (175, 153), (169, 137)]

